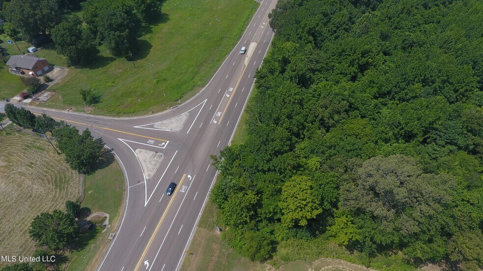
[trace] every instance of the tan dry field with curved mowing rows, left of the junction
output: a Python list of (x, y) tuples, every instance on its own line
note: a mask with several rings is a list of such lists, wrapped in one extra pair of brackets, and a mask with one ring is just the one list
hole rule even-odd
[(29, 255), (35, 249), (30, 222), (77, 200), (80, 174), (41, 138), (2, 132), (0, 146), (0, 255)]

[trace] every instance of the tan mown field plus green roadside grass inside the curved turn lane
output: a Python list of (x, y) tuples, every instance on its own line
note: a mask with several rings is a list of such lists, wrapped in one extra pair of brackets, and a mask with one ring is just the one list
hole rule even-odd
[[(7, 130), (0, 132), (0, 255), (29, 255), (35, 249), (28, 236), (30, 222), (41, 212), (64, 210), (66, 200), (77, 200), (81, 177), (45, 139), (16, 132), (12, 125)], [(119, 225), (124, 176), (113, 157), (100, 168), (85, 178), (81, 207), (108, 213), (110, 227), (87, 232), (81, 249), (61, 258), (62, 270), (94, 270), (110, 242), (109, 232)]]

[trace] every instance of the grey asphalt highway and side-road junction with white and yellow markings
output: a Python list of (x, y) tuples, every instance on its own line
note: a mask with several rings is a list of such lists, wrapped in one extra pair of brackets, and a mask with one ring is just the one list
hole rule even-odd
[[(268, 13), (275, 3), (261, 2), (211, 81), (177, 108), (150, 116), (107, 118), (24, 106), (80, 129), (89, 128), (113, 150), (121, 164), (126, 178), (125, 209), (98, 271), (179, 270), (215, 182), (217, 172), (210, 155), (219, 154), (230, 144), (253, 88), (253, 76), (273, 38)], [(245, 54), (240, 54), (242, 47), (248, 49)], [(178, 131), (153, 124), (180, 115), (188, 117)], [(163, 154), (159, 168), (149, 179), (136, 149)], [(170, 182), (177, 187), (166, 196)]]

